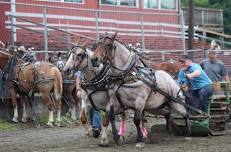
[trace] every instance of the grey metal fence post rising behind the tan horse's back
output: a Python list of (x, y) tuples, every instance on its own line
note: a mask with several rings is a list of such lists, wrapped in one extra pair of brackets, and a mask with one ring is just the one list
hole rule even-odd
[(47, 7), (44, 6), (43, 14), (43, 24), (44, 24), (44, 51), (45, 51), (45, 61), (48, 61), (48, 31), (47, 31)]

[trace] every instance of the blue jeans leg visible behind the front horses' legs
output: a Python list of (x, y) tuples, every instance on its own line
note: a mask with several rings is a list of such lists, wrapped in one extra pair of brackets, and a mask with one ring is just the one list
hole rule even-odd
[(90, 123), (92, 125), (92, 128), (97, 128), (101, 130), (102, 126), (102, 116), (100, 111), (95, 110), (94, 108), (90, 108)]

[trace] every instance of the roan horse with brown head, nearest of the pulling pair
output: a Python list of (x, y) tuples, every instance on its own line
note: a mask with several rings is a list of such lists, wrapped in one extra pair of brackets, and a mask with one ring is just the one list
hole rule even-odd
[[(95, 66), (102, 61), (111, 67), (111, 77), (116, 80), (109, 89), (110, 105), (115, 108), (118, 102), (115, 102), (115, 94), (120, 97), (120, 103), (123, 106), (131, 108), (135, 111), (134, 124), (137, 128), (137, 144), (136, 147), (144, 146), (144, 138), (142, 134), (141, 116), (144, 111), (155, 114), (157, 109), (168, 106), (170, 109), (178, 112), (185, 118), (187, 126), (186, 136), (191, 134), (189, 116), (186, 108), (179, 102), (172, 101), (178, 99), (185, 103), (183, 92), (177, 82), (165, 71), (150, 69), (143, 73), (152, 76), (152, 82), (147, 83), (148, 77), (140, 77), (140, 73), (145, 70), (140, 67), (137, 55), (128, 50), (126, 46), (117, 41), (117, 32), (111, 37), (104, 37), (99, 43), (92, 56)], [(141, 69), (141, 70), (139, 70)], [(148, 72), (151, 71), (151, 72)], [(117, 79), (120, 77), (120, 79)], [(134, 77), (133, 81), (126, 81), (129, 77)], [(113, 80), (112, 79), (112, 80)], [(150, 79), (149, 79), (150, 80)], [(126, 84), (134, 85), (134, 87), (126, 87)], [(121, 104), (120, 104), (121, 105)], [(110, 111), (108, 111), (110, 112)], [(105, 126), (104, 126), (105, 127)]]

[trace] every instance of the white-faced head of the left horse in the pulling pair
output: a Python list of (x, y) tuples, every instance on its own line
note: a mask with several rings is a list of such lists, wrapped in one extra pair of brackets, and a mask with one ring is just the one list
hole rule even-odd
[(85, 45), (83, 46), (75, 46), (69, 55), (69, 58), (66, 62), (66, 65), (63, 68), (63, 71), (68, 71), (75, 68), (84, 68), (87, 66), (88, 62), (84, 62), (84, 60), (87, 60), (87, 50)]

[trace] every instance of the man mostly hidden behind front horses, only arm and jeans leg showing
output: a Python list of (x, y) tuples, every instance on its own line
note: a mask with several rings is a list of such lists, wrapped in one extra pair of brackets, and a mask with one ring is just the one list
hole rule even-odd
[[(83, 79), (84, 74), (82, 71), (77, 71), (75, 73), (76, 76), (76, 94), (78, 98), (81, 98), (81, 79)], [(93, 107), (90, 108), (90, 123), (92, 125), (93, 137), (98, 138), (101, 131), (101, 124), (102, 124), (102, 116), (100, 111), (94, 109)]]

